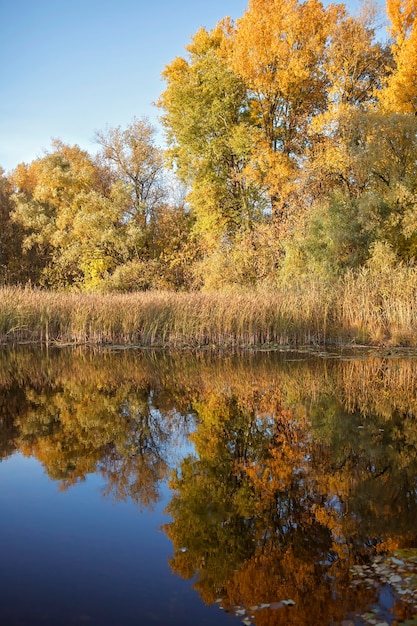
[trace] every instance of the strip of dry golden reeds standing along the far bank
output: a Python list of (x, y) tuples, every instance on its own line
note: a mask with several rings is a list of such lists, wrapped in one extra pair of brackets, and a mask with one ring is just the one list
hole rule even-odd
[(253, 293), (0, 289), (0, 341), (149, 347), (417, 345), (417, 274)]

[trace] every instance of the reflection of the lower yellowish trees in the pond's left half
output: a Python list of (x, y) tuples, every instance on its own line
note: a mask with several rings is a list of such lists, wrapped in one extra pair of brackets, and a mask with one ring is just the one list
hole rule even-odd
[(158, 501), (166, 477), (169, 415), (152, 406), (149, 389), (97, 389), (84, 383), (27, 392), (26, 414), (17, 418), (19, 447), (35, 455), (61, 487), (99, 471), (105, 493), (143, 506)]

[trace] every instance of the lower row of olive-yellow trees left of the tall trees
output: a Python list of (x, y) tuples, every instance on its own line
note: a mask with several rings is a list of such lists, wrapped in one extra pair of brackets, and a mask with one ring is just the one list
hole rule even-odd
[(146, 119), (97, 133), (94, 157), (56, 140), (1, 180), (5, 284), (132, 290), (186, 283), (191, 216), (168, 202), (161, 150)]

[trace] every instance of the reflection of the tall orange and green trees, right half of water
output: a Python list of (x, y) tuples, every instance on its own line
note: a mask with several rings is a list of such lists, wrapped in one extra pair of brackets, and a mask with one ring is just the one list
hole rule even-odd
[[(273, 393), (253, 385), (252, 397), (249, 386), (234, 395), (207, 385), (194, 403), (197, 456), (172, 479), (166, 532), (176, 548), (171, 566), (196, 577), (207, 602), (222, 595), (250, 607), (291, 597), (296, 611), (265, 610), (256, 623), (341, 620), (375, 599), (372, 589), (348, 586), (350, 567), (415, 545), (417, 425), (412, 411), (398, 410), (415, 401), (415, 372), (404, 363), (411, 387), (401, 376), (397, 387), (379, 379), (368, 398), (355, 365), (356, 404), (350, 362), (323, 364), (314, 381), (304, 366), (284, 366)], [(365, 369), (371, 380), (376, 365)], [(370, 412), (376, 406), (383, 411)]]

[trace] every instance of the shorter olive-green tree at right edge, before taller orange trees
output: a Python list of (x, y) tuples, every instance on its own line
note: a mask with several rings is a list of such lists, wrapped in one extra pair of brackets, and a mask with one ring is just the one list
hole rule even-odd
[(340, 116), (332, 149), (321, 146), (310, 164), (312, 187), (323, 189), (286, 244), (285, 270), (340, 275), (365, 264), (377, 242), (413, 262), (416, 142), (414, 116), (352, 110)]

